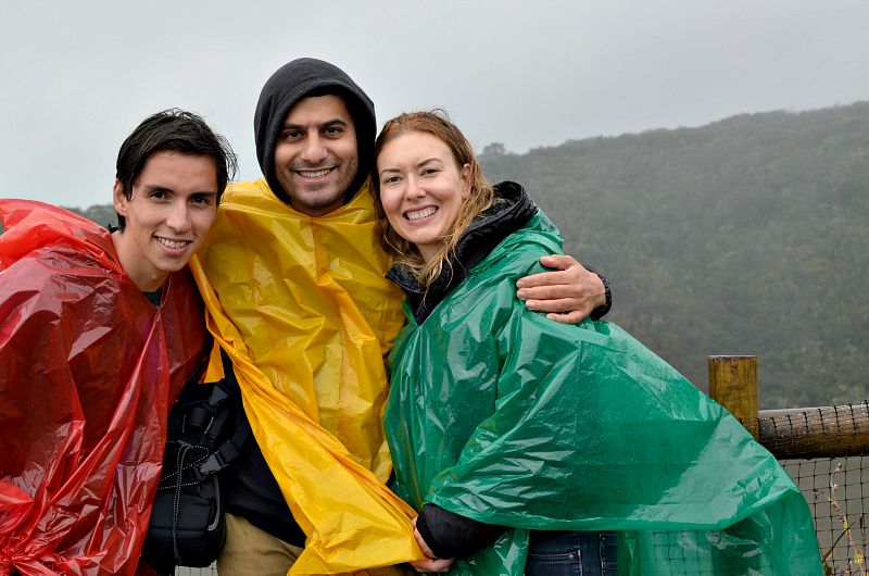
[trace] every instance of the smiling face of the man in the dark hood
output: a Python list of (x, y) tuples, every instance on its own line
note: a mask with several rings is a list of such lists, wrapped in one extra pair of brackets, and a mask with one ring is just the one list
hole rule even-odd
[(275, 145), (275, 176), (292, 208), (310, 216), (340, 208), (357, 170), (356, 129), (344, 100), (299, 100)]

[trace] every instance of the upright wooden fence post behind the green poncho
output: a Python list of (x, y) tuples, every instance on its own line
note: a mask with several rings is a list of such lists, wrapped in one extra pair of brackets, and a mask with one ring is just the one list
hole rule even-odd
[(757, 438), (757, 356), (709, 356), (709, 396)]

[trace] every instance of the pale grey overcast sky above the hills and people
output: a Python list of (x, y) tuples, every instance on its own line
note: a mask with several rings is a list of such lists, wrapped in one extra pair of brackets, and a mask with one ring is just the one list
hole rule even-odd
[(866, 0), (0, 2), (0, 197), (109, 203), (123, 139), (199, 112), (260, 176), (253, 111), (299, 57), (380, 124), (444, 108), (478, 150), (869, 100)]

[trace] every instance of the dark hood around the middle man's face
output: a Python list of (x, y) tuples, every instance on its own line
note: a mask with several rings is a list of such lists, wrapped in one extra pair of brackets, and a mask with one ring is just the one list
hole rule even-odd
[(280, 200), (290, 203), (287, 192), (275, 176), (275, 142), (280, 136), (284, 118), (290, 109), (312, 92), (336, 95), (344, 99), (356, 128), (358, 172), (350, 186), (348, 198), (360, 189), (374, 162), (374, 138), (377, 122), (374, 102), (341, 68), (313, 58), (300, 58), (275, 72), (260, 92), (253, 132), (256, 138), (256, 159), (268, 186)]

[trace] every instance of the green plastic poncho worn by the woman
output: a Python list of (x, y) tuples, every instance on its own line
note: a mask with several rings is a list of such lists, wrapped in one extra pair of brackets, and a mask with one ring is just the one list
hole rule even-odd
[(557, 324), (515, 281), (561, 251), (541, 214), (390, 356), (395, 491), (512, 527), (451, 574), (522, 574), (528, 530), (619, 530), (619, 573), (820, 575), (808, 505), (725, 409), (615, 324)]

